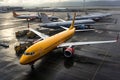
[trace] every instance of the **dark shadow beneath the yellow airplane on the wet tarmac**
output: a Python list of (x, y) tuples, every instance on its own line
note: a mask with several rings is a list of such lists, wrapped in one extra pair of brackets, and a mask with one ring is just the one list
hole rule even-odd
[(35, 70), (30, 70), (28, 75), (24, 77), (23, 80), (54, 80), (56, 73), (62, 69), (70, 69), (73, 67), (74, 62), (79, 64), (91, 64), (96, 65), (95, 60), (82, 57), (79, 55), (74, 55), (71, 58), (65, 58), (62, 50), (56, 50), (45, 57), (42, 61), (35, 65)]

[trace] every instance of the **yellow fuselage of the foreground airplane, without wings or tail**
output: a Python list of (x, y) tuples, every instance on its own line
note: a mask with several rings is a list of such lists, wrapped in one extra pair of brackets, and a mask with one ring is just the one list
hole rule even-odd
[(37, 59), (41, 58), (48, 52), (57, 48), (57, 46), (59, 44), (65, 42), (69, 38), (71, 38), (73, 36), (74, 32), (75, 32), (75, 28), (70, 29), (70, 30), (68, 29), (66, 31), (60, 32), (56, 35), (53, 35), (49, 38), (46, 38), (42, 41), (39, 41), (39, 42), (33, 44), (22, 55), (22, 57), (20, 59), (20, 63), (25, 65), (25, 64), (30, 64), (33, 61), (36, 61)]

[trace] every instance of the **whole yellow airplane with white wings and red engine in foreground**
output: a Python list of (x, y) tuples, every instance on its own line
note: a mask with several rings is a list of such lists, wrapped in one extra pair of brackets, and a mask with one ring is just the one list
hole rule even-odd
[(109, 41), (92, 41), (92, 42), (71, 42), (71, 43), (64, 43), (68, 39), (70, 39), (75, 33), (74, 27), (74, 20), (76, 14), (74, 14), (74, 19), (69, 28), (65, 28), (67, 30), (55, 34), (51, 37), (42, 34), (32, 28), (29, 28), (30, 31), (34, 32), (38, 36), (40, 36), (43, 40), (38, 41), (37, 43), (31, 45), (24, 54), (20, 58), (20, 64), (27, 65), (30, 64), (31, 68), (34, 69), (34, 62), (40, 59), (45, 54), (48, 54), (50, 51), (56, 48), (66, 48), (64, 50), (65, 57), (71, 57), (74, 54), (73, 46), (78, 45), (87, 45), (87, 44), (100, 44), (100, 43), (112, 43), (116, 42), (117, 40), (109, 40)]

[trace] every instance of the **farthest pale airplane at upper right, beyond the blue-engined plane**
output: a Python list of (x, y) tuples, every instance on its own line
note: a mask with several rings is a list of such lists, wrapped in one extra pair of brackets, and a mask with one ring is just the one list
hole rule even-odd
[[(112, 16), (112, 14), (111, 13), (91, 13), (83, 16), (82, 15), (76, 16), (75, 20), (92, 19), (94, 21), (99, 21), (109, 16)], [(72, 19), (73, 17), (69, 13), (67, 13), (67, 20), (72, 20)]]

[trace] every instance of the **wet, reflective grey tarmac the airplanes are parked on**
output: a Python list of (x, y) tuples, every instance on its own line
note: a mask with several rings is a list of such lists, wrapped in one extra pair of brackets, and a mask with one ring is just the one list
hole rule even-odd
[[(76, 32), (68, 42), (116, 39), (120, 31), (120, 11), (108, 12), (114, 13), (112, 18), (117, 19), (117, 24), (95, 26), (95, 31)], [(66, 16), (59, 12), (55, 15)], [(33, 28), (38, 24), (38, 21), (30, 22)], [(0, 14), (0, 42), (9, 44), (9, 48), (0, 47), (0, 80), (120, 79), (120, 39), (117, 43), (77, 46), (70, 59), (63, 56), (62, 49), (56, 49), (38, 60), (33, 71), (29, 65), (19, 64), (20, 56), (14, 50), (19, 41), (15, 32), (25, 29), (26, 20), (16, 19), (12, 13)]]

